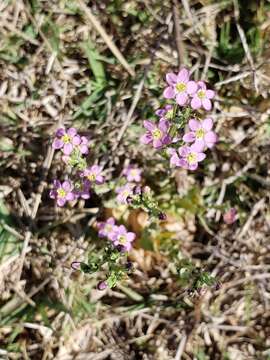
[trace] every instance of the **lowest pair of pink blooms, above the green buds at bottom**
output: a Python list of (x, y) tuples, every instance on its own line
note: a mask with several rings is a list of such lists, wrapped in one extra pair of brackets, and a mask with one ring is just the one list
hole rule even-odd
[(109, 239), (120, 251), (131, 250), (136, 235), (129, 232), (124, 225), (116, 225), (113, 217), (105, 222), (99, 222), (97, 227), (99, 237)]

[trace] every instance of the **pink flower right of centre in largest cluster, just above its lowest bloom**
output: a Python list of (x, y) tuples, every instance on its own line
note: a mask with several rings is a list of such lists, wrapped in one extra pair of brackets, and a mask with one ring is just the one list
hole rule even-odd
[(203, 121), (190, 119), (188, 126), (191, 131), (183, 136), (184, 142), (191, 143), (195, 141), (196, 143), (201, 143), (204, 147), (206, 146), (209, 149), (211, 149), (217, 142), (217, 135), (214, 131), (212, 131), (212, 119), (207, 118)]

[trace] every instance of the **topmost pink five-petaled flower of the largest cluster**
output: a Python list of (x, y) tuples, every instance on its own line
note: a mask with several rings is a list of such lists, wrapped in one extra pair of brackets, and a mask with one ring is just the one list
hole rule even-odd
[(175, 98), (180, 106), (186, 105), (189, 95), (194, 94), (198, 88), (195, 81), (189, 81), (189, 71), (187, 69), (180, 70), (177, 75), (168, 73), (166, 81), (169, 86), (164, 90), (163, 96), (166, 99)]

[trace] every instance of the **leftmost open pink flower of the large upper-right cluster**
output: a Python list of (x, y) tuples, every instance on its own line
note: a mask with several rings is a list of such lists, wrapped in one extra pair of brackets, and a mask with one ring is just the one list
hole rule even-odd
[(152, 143), (155, 149), (160, 149), (162, 146), (168, 145), (171, 142), (171, 137), (168, 134), (170, 123), (167, 120), (159, 120), (158, 125), (145, 120), (143, 126), (146, 128), (147, 132), (141, 137), (141, 143)]

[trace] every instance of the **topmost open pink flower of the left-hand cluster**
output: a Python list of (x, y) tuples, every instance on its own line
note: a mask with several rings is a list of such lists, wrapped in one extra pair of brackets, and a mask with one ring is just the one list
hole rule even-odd
[(65, 155), (70, 155), (74, 146), (78, 146), (81, 143), (81, 137), (74, 128), (70, 128), (67, 131), (63, 128), (58, 129), (55, 135), (52, 147), (56, 150), (63, 149)]

